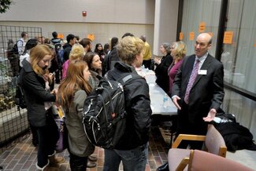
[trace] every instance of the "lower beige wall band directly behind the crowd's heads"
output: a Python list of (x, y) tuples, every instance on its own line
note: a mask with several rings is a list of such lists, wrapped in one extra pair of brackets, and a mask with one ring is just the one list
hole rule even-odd
[(80, 38), (87, 34), (95, 35), (95, 43), (109, 42), (110, 38), (121, 38), (126, 32), (131, 32), (135, 36), (146, 35), (147, 41), (153, 47), (154, 25), (153, 24), (81, 24), (81, 23), (49, 23), (49, 22), (0, 22), (0, 25), (42, 27), (42, 35), (52, 38), (51, 33), (57, 31), (62, 33), (64, 38), (69, 33), (79, 35)]

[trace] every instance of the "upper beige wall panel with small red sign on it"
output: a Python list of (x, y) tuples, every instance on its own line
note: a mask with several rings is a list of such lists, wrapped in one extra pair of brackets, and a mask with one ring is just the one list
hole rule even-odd
[[(154, 0), (13, 0), (0, 20), (154, 24)], [(87, 16), (82, 16), (87, 11)]]

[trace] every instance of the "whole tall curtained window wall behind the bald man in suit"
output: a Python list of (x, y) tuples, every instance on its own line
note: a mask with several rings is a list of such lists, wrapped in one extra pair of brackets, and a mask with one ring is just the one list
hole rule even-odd
[[(227, 20), (224, 26), (224, 40), (221, 52), (216, 52), (219, 20), (227, 5)], [(228, 4), (226, 4), (228, 3)], [(194, 53), (195, 38), (200, 23), (205, 23), (204, 32), (213, 32), (213, 47), (210, 54), (221, 54), (224, 65), (225, 89), (222, 108), (236, 115), (241, 125), (256, 136), (256, 1), (255, 0), (184, 0), (181, 32), (187, 43), (187, 54)], [(222, 18), (221, 18), (222, 19)], [(194, 40), (190, 32), (195, 32)], [(222, 27), (220, 29), (222, 31)], [(220, 36), (219, 36), (220, 38)], [(218, 47), (220, 47), (218, 46)], [(218, 48), (219, 49), (219, 48)], [(231, 86), (230, 86), (231, 85)], [(231, 89), (230, 89), (231, 88)], [(233, 91), (237, 90), (237, 91)]]

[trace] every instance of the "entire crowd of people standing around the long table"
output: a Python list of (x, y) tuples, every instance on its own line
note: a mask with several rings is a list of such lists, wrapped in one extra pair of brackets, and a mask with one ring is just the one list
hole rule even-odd
[[(134, 73), (142, 65), (154, 70), (156, 83), (177, 107), (177, 135), (205, 135), (207, 123), (220, 108), (224, 97), (223, 66), (208, 53), (212, 38), (207, 33), (198, 35), (195, 54), (187, 56), (184, 42), (163, 42), (161, 57), (151, 55), (145, 35), (138, 38), (125, 33), (121, 39), (111, 38), (104, 48), (97, 43), (94, 52), (89, 38), (69, 34), (64, 43), (56, 31), (52, 35), (51, 39), (28, 40), (28, 33), (22, 32), (18, 41), (20, 63), (15, 61), (20, 72), (12, 69), (13, 75), (19, 75), (25, 100), (29, 102), (28, 121), (33, 144), (38, 147), (39, 170), (58, 170), (57, 166), (65, 162), (64, 158), (55, 156), (58, 127), (49, 114), (50, 102), (56, 102), (65, 111), (71, 170), (96, 166), (97, 158), (91, 155), (95, 147), (84, 133), (81, 112), (84, 100), (97, 88), (98, 78), (106, 73)], [(15, 62), (12, 58), (11, 64)], [(58, 88), (54, 89), (54, 83), (60, 83)], [(117, 148), (105, 150), (105, 171), (118, 170), (121, 162), (124, 170), (145, 170), (147, 163), (152, 113), (149, 86), (144, 78), (136, 79), (124, 89), (124, 94), (129, 101), (125, 104), (129, 116), (127, 131)], [(194, 149), (202, 147), (191, 142), (184, 142), (180, 147), (186, 148), (188, 144)]]

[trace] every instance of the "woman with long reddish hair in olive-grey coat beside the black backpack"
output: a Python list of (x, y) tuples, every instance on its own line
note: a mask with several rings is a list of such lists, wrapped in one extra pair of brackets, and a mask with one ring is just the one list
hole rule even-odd
[(68, 129), (69, 164), (71, 170), (87, 169), (87, 159), (95, 147), (87, 139), (83, 130), (83, 104), (91, 93), (87, 63), (83, 60), (70, 60), (66, 78), (58, 88), (58, 103), (65, 110), (65, 124)]

